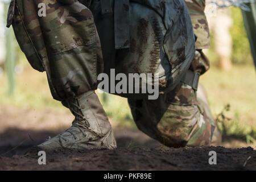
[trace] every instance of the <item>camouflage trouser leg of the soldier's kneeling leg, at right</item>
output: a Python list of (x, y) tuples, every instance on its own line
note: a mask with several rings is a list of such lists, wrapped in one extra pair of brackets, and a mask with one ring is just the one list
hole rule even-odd
[[(199, 51), (196, 55), (191, 68), (205, 72), (209, 66), (206, 57), (200, 56)], [(197, 100), (191, 86), (180, 84), (174, 92), (160, 95), (158, 100), (129, 98), (129, 105), (138, 128), (166, 146), (207, 146), (211, 143), (214, 120), (209, 107)]]

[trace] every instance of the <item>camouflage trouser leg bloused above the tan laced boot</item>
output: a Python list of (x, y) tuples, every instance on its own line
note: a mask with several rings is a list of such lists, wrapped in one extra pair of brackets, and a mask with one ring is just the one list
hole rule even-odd
[[(46, 16), (38, 16), (38, 5)], [(97, 88), (103, 72), (100, 40), (91, 11), (76, 0), (12, 1), (9, 23), (32, 67), (46, 71), (57, 100)]]

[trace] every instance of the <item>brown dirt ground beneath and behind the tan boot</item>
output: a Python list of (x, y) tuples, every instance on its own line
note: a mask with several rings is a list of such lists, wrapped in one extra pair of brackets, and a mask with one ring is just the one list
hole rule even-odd
[[(138, 130), (119, 127), (114, 127), (117, 150), (60, 150), (47, 154), (45, 166), (38, 164), (38, 151), (24, 155), (71, 120), (64, 111), (0, 106), (0, 170), (256, 170), (251, 147), (167, 148)], [(210, 151), (217, 152), (217, 165), (209, 165)]]

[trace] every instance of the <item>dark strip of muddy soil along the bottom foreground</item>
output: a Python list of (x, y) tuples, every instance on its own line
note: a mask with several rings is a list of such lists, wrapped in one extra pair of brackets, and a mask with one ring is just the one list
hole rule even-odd
[[(208, 163), (212, 150), (217, 152), (217, 165)], [(47, 154), (47, 165), (39, 166), (35, 151), (28, 156), (1, 157), (0, 170), (256, 170), (256, 152), (224, 147), (61, 150)]]

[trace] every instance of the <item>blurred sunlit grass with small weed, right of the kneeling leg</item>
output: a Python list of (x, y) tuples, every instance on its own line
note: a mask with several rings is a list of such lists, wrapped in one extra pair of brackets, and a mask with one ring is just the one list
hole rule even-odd
[(236, 65), (230, 72), (213, 67), (201, 77), (224, 138), (256, 143), (255, 80), (252, 64)]

